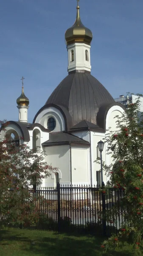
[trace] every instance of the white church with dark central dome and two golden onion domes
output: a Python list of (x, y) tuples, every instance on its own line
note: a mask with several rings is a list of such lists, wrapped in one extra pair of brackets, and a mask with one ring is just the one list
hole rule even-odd
[[(79, 4), (76, 21), (65, 32), (68, 58), (68, 75), (53, 90), (45, 105), (28, 122), (29, 100), (22, 93), (17, 99), (18, 121), (8, 121), (5, 134), (14, 134), (15, 141), (30, 148), (38, 147), (38, 154), (45, 151), (45, 161), (58, 171), (42, 181), (42, 187), (63, 185), (101, 184), (98, 142), (106, 130), (116, 128), (115, 116), (125, 111), (123, 105), (112, 98), (106, 88), (91, 75), (90, 47), (92, 32), (81, 23)], [(108, 165), (105, 143), (102, 160)], [(104, 174), (106, 184), (108, 177)]]

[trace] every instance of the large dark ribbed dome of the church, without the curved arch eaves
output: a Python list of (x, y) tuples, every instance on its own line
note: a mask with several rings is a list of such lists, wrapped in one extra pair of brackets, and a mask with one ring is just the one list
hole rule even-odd
[(55, 104), (66, 108), (73, 125), (82, 120), (97, 125), (99, 109), (112, 103), (115, 103), (114, 99), (95, 77), (89, 73), (73, 73), (62, 80), (45, 105)]

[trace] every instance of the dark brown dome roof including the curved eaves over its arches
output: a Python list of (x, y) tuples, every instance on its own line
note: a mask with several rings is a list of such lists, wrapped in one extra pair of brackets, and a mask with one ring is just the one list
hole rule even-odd
[(107, 111), (113, 105), (124, 109), (90, 73), (75, 72), (66, 76), (53, 90), (33, 122), (42, 110), (53, 106), (64, 116), (65, 131), (89, 128), (105, 131)]

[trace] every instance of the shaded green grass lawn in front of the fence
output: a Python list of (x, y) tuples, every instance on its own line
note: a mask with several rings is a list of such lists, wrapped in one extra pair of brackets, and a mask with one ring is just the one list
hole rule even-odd
[[(9, 228), (0, 230), (0, 256), (101, 256), (102, 241), (93, 236)], [(131, 248), (110, 255), (132, 256)]]

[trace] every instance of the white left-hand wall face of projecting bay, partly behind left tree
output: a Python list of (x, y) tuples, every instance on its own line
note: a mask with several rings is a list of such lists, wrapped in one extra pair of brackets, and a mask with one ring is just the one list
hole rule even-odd
[[(44, 148), (46, 156), (45, 161), (60, 170), (60, 184), (70, 185), (70, 145), (52, 146)], [(55, 186), (55, 175), (45, 179), (45, 187)]]

